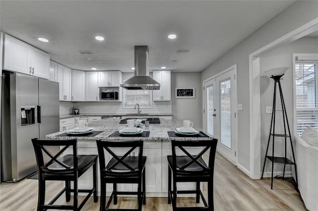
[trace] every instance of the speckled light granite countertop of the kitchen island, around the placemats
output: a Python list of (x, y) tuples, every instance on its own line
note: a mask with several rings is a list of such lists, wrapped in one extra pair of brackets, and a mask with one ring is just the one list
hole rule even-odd
[[(124, 127), (127, 127), (126, 124), (120, 124), (120, 119), (101, 119), (99, 121), (94, 121), (88, 123), (88, 127), (93, 127), (95, 131), (104, 131), (94, 137), (85, 137), (85, 136), (58, 136), (60, 134), (66, 133), (66, 131), (52, 133), (46, 136), (47, 139), (73, 139), (78, 138), (79, 140), (152, 140), (152, 141), (162, 141), (162, 140), (211, 140), (213, 137), (209, 138), (196, 138), (196, 137), (173, 137), (170, 138), (168, 136), (167, 131), (174, 131), (177, 127), (182, 127), (181, 120), (175, 119), (160, 119), (160, 124), (149, 124), (149, 127), (145, 127), (143, 125), (144, 131), (150, 131), (149, 137), (108, 137), (115, 131), (119, 131)], [(202, 131), (201, 128), (193, 127), (198, 130)], [(203, 131), (204, 132), (204, 131)], [(206, 132), (204, 132), (207, 134)]]

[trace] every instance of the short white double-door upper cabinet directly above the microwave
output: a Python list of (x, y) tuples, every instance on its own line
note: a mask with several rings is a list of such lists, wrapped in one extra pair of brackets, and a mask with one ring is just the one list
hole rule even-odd
[(120, 87), (122, 72), (120, 71), (99, 71), (98, 87)]

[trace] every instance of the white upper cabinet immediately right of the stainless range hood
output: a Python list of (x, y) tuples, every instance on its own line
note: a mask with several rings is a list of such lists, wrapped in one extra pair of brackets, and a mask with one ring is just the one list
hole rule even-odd
[(153, 90), (153, 101), (171, 101), (170, 70), (154, 70), (153, 78), (160, 84), (159, 90)]

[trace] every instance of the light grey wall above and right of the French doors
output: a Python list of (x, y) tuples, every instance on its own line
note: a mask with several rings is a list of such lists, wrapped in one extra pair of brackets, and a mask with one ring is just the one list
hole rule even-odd
[[(217, 61), (202, 71), (203, 80), (237, 64), (238, 67), (238, 103), (243, 104), (243, 110), (238, 112), (239, 164), (249, 171), (249, 63), (248, 55), (261, 47), (275, 41), (283, 35), (318, 17), (318, 1), (296, 1), (278, 16), (270, 20), (256, 32), (251, 34), (239, 45), (225, 53)], [(235, 36), (235, 35), (233, 35)], [(202, 113), (202, 112), (201, 112)]]

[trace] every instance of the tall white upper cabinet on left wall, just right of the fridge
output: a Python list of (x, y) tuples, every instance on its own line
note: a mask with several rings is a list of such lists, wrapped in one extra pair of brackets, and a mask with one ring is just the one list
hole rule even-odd
[(62, 64), (58, 64), (58, 82), (60, 101), (71, 101), (72, 70)]

